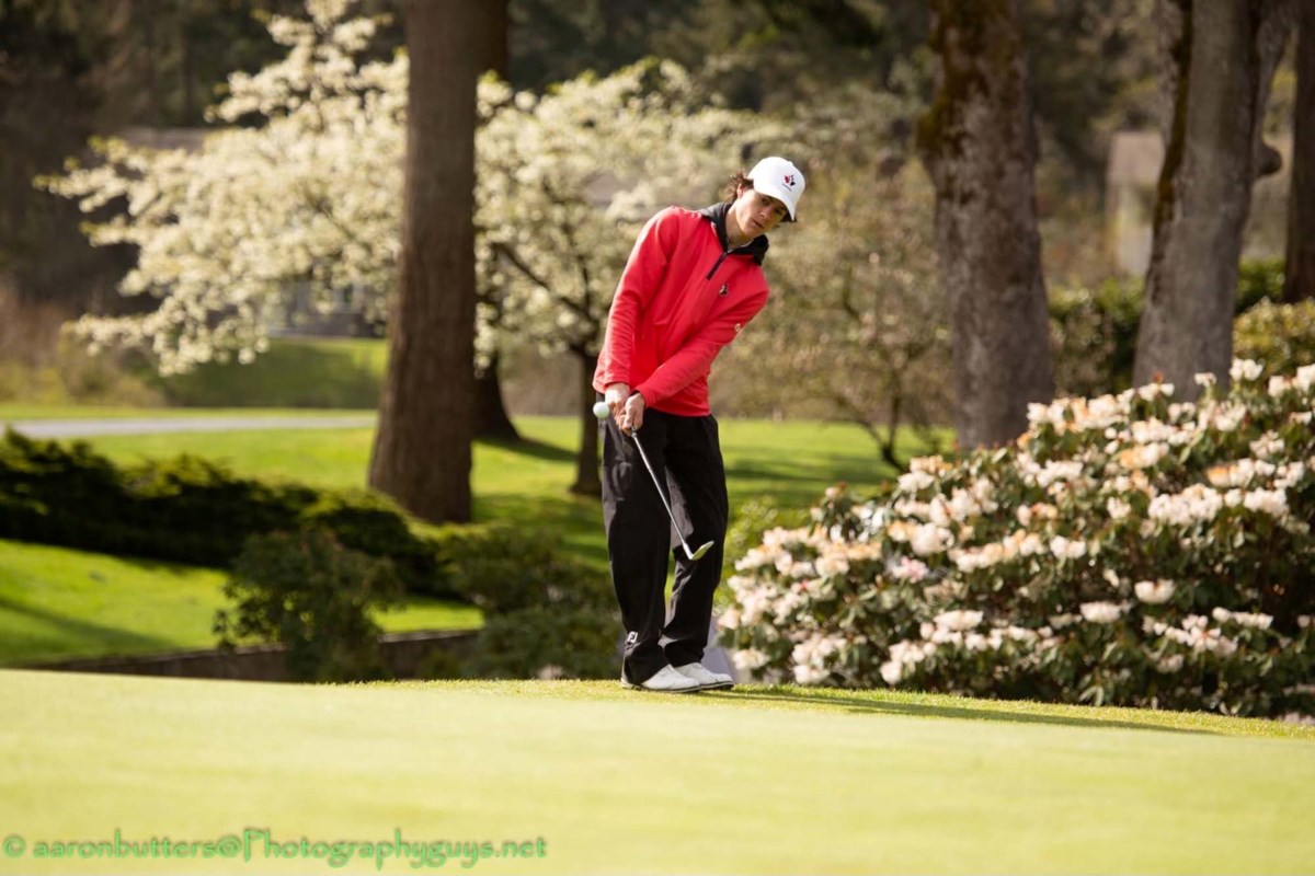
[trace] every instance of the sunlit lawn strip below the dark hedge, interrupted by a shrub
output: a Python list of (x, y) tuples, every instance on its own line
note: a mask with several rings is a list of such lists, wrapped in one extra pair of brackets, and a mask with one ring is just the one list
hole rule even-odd
[[(0, 666), (214, 646), (226, 604), (212, 569), (0, 540)], [(414, 599), (389, 632), (475, 629), (479, 609)]]

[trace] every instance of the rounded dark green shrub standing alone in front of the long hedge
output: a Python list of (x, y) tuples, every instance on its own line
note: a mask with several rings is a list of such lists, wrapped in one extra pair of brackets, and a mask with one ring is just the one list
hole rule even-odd
[(343, 548), (322, 529), (252, 536), (224, 595), (235, 604), (214, 619), (222, 646), (285, 645), (288, 674), (300, 682), (384, 676), (371, 611), (402, 595), (388, 559)]

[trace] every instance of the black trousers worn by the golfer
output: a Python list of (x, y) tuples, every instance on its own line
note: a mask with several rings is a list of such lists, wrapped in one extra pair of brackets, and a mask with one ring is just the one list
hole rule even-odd
[[(602, 523), (608, 533), (611, 583), (626, 626), (622, 674), (633, 684), (663, 666), (704, 658), (713, 592), (721, 583), (729, 500), (726, 469), (713, 416), (676, 416), (648, 408), (639, 429), (648, 462), (671, 498), (681, 535), (694, 550), (690, 561), (672, 537), (671, 520), (634, 439), (605, 420), (602, 440)], [(667, 552), (676, 557), (676, 583), (667, 615)]]

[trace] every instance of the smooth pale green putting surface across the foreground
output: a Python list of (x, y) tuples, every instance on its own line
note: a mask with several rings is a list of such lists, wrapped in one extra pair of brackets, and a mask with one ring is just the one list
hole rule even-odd
[[(255, 829), (308, 847), (543, 839), (542, 859), (468, 868), (490, 873), (1315, 868), (1315, 733), (1272, 722), (798, 688), (20, 671), (0, 672), (0, 701), (14, 704), (0, 833), (29, 850), (116, 829), (172, 842)], [(185, 864), (29, 851), (0, 873), (333, 869), (252, 851)]]

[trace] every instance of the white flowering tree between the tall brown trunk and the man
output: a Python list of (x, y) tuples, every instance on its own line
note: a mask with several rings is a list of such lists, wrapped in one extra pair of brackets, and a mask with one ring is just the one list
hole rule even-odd
[(547, 95), (487, 84), (476, 141), (485, 349), (498, 332), (569, 353), (580, 365), (581, 448), (572, 491), (597, 495), (590, 381), (608, 309), (643, 222), (659, 209), (715, 201), (777, 126), (702, 92), (677, 64), (584, 75)]

